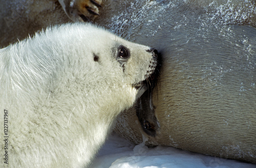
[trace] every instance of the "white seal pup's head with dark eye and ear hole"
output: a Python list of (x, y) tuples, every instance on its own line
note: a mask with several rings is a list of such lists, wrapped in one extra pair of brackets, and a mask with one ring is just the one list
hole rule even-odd
[[(81, 67), (80, 69), (87, 69), (87, 81), (88, 79), (90, 83), (95, 81), (97, 83), (95, 85), (101, 89), (106, 88), (107, 85), (111, 86), (108, 91), (119, 90), (119, 94), (127, 94), (126, 97), (129, 97), (132, 92), (135, 95), (133, 101), (136, 101), (150, 86), (148, 79), (152, 77), (158, 64), (157, 50), (124, 40), (91, 24), (76, 23), (75, 25), (75, 27), (67, 25), (67, 28), (76, 29), (69, 33), (76, 34), (71, 37), (76, 37), (76, 43), (79, 44), (79, 46), (76, 45), (80, 55), (78, 59), (84, 58), (84, 60), (81, 61), (83, 64), (78, 66)], [(79, 70), (79, 73), (82, 72)], [(100, 86), (101, 84), (103, 85)], [(129, 90), (129, 93), (125, 93), (125, 90)]]

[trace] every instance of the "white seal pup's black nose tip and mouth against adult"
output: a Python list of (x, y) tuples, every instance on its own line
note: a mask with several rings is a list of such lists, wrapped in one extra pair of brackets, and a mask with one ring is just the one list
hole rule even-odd
[(132, 86), (138, 90), (136, 95), (136, 100), (138, 100), (141, 95), (149, 88), (153, 88), (153, 80), (156, 76), (156, 67), (158, 65), (158, 52), (156, 49), (147, 50), (147, 52), (152, 53), (152, 60), (150, 61), (150, 65), (148, 65), (146, 74), (144, 79), (138, 83), (133, 84)]

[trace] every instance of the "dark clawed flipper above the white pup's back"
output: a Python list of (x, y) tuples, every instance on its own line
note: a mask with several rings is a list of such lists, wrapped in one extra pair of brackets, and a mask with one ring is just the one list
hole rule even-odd
[(93, 22), (99, 15), (102, 0), (58, 0), (58, 2), (72, 21)]

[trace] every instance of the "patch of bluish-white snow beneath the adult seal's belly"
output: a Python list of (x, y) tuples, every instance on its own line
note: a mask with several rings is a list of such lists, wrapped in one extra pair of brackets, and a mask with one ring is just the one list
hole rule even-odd
[(93, 168), (255, 168), (256, 164), (183, 151), (173, 147), (147, 148), (112, 134), (99, 151)]

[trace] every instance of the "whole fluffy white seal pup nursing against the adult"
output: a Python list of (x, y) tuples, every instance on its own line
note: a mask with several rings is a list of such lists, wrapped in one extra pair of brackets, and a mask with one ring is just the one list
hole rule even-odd
[(7, 153), (1, 163), (88, 166), (156, 65), (156, 50), (84, 23), (48, 28), (1, 49), (1, 153)]

